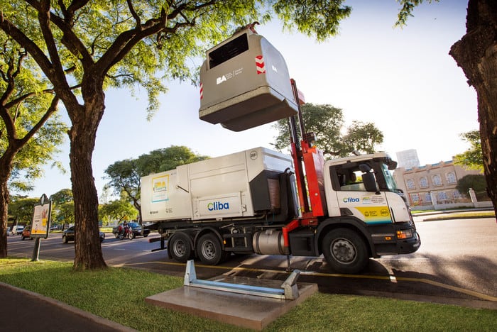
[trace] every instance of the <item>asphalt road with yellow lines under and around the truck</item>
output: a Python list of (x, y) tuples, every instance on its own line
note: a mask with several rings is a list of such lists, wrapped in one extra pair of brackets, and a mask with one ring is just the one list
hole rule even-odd
[[(370, 260), (361, 275), (339, 275), (322, 258), (291, 258), (302, 271), (299, 281), (316, 282), (320, 291), (367, 294), (497, 309), (497, 225), (495, 218), (417, 222), (420, 250), (410, 255)], [(151, 237), (158, 236), (151, 234)], [(9, 237), (9, 255), (31, 257), (34, 241)], [(109, 265), (143, 268), (183, 277), (185, 265), (169, 260), (165, 250), (152, 252), (158, 243), (148, 238), (116, 240), (111, 234), (102, 243)], [(74, 245), (62, 244), (60, 235), (42, 240), (40, 260), (73, 260)], [(284, 280), (285, 256), (232, 256), (212, 267), (197, 262), (197, 276), (208, 279), (224, 273)], [(464, 303), (463, 303), (464, 302)]]

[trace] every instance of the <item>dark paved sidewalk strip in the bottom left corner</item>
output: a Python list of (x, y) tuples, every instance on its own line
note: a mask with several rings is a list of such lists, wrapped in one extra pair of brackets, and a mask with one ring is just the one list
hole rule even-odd
[(136, 331), (55, 299), (0, 282), (0, 331)]

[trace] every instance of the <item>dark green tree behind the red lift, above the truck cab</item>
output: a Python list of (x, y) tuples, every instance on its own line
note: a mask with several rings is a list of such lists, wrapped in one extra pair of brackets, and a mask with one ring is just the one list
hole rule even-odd
[[(316, 135), (316, 145), (324, 155), (333, 157), (345, 157), (352, 151), (362, 153), (373, 153), (376, 144), (383, 142), (383, 133), (373, 123), (362, 123), (353, 121), (352, 125), (344, 126), (344, 114), (342, 109), (331, 105), (315, 105), (307, 103), (302, 105), (302, 118), (305, 123), (305, 131)], [(290, 129), (286, 119), (275, 123), (278, 129), (278, 137), (274, 146), (278, 150), (284, 150), (290, 145)]]

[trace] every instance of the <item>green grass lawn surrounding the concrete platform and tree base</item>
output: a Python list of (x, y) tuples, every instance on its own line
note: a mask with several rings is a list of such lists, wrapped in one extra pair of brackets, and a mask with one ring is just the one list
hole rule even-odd
[[(116, 267), (74, 272), (72, 262), (0, 259), (0, 282), (139, 331), (245, 331), (145, 303), (148, 296), (182, 286), (180, 277)], [(497, 311), (488, 309), (316, 293), (264, 331), (496, 331), (496, 326)]]

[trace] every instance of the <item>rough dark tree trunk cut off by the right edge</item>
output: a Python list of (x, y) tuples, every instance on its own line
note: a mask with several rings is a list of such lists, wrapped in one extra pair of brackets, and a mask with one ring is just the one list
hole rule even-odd
[(466, 35), (452, 45), (454, 57), (476, 89), (481, 150), (488, 197), (497, 214), (497, 1), (469, 0)]

